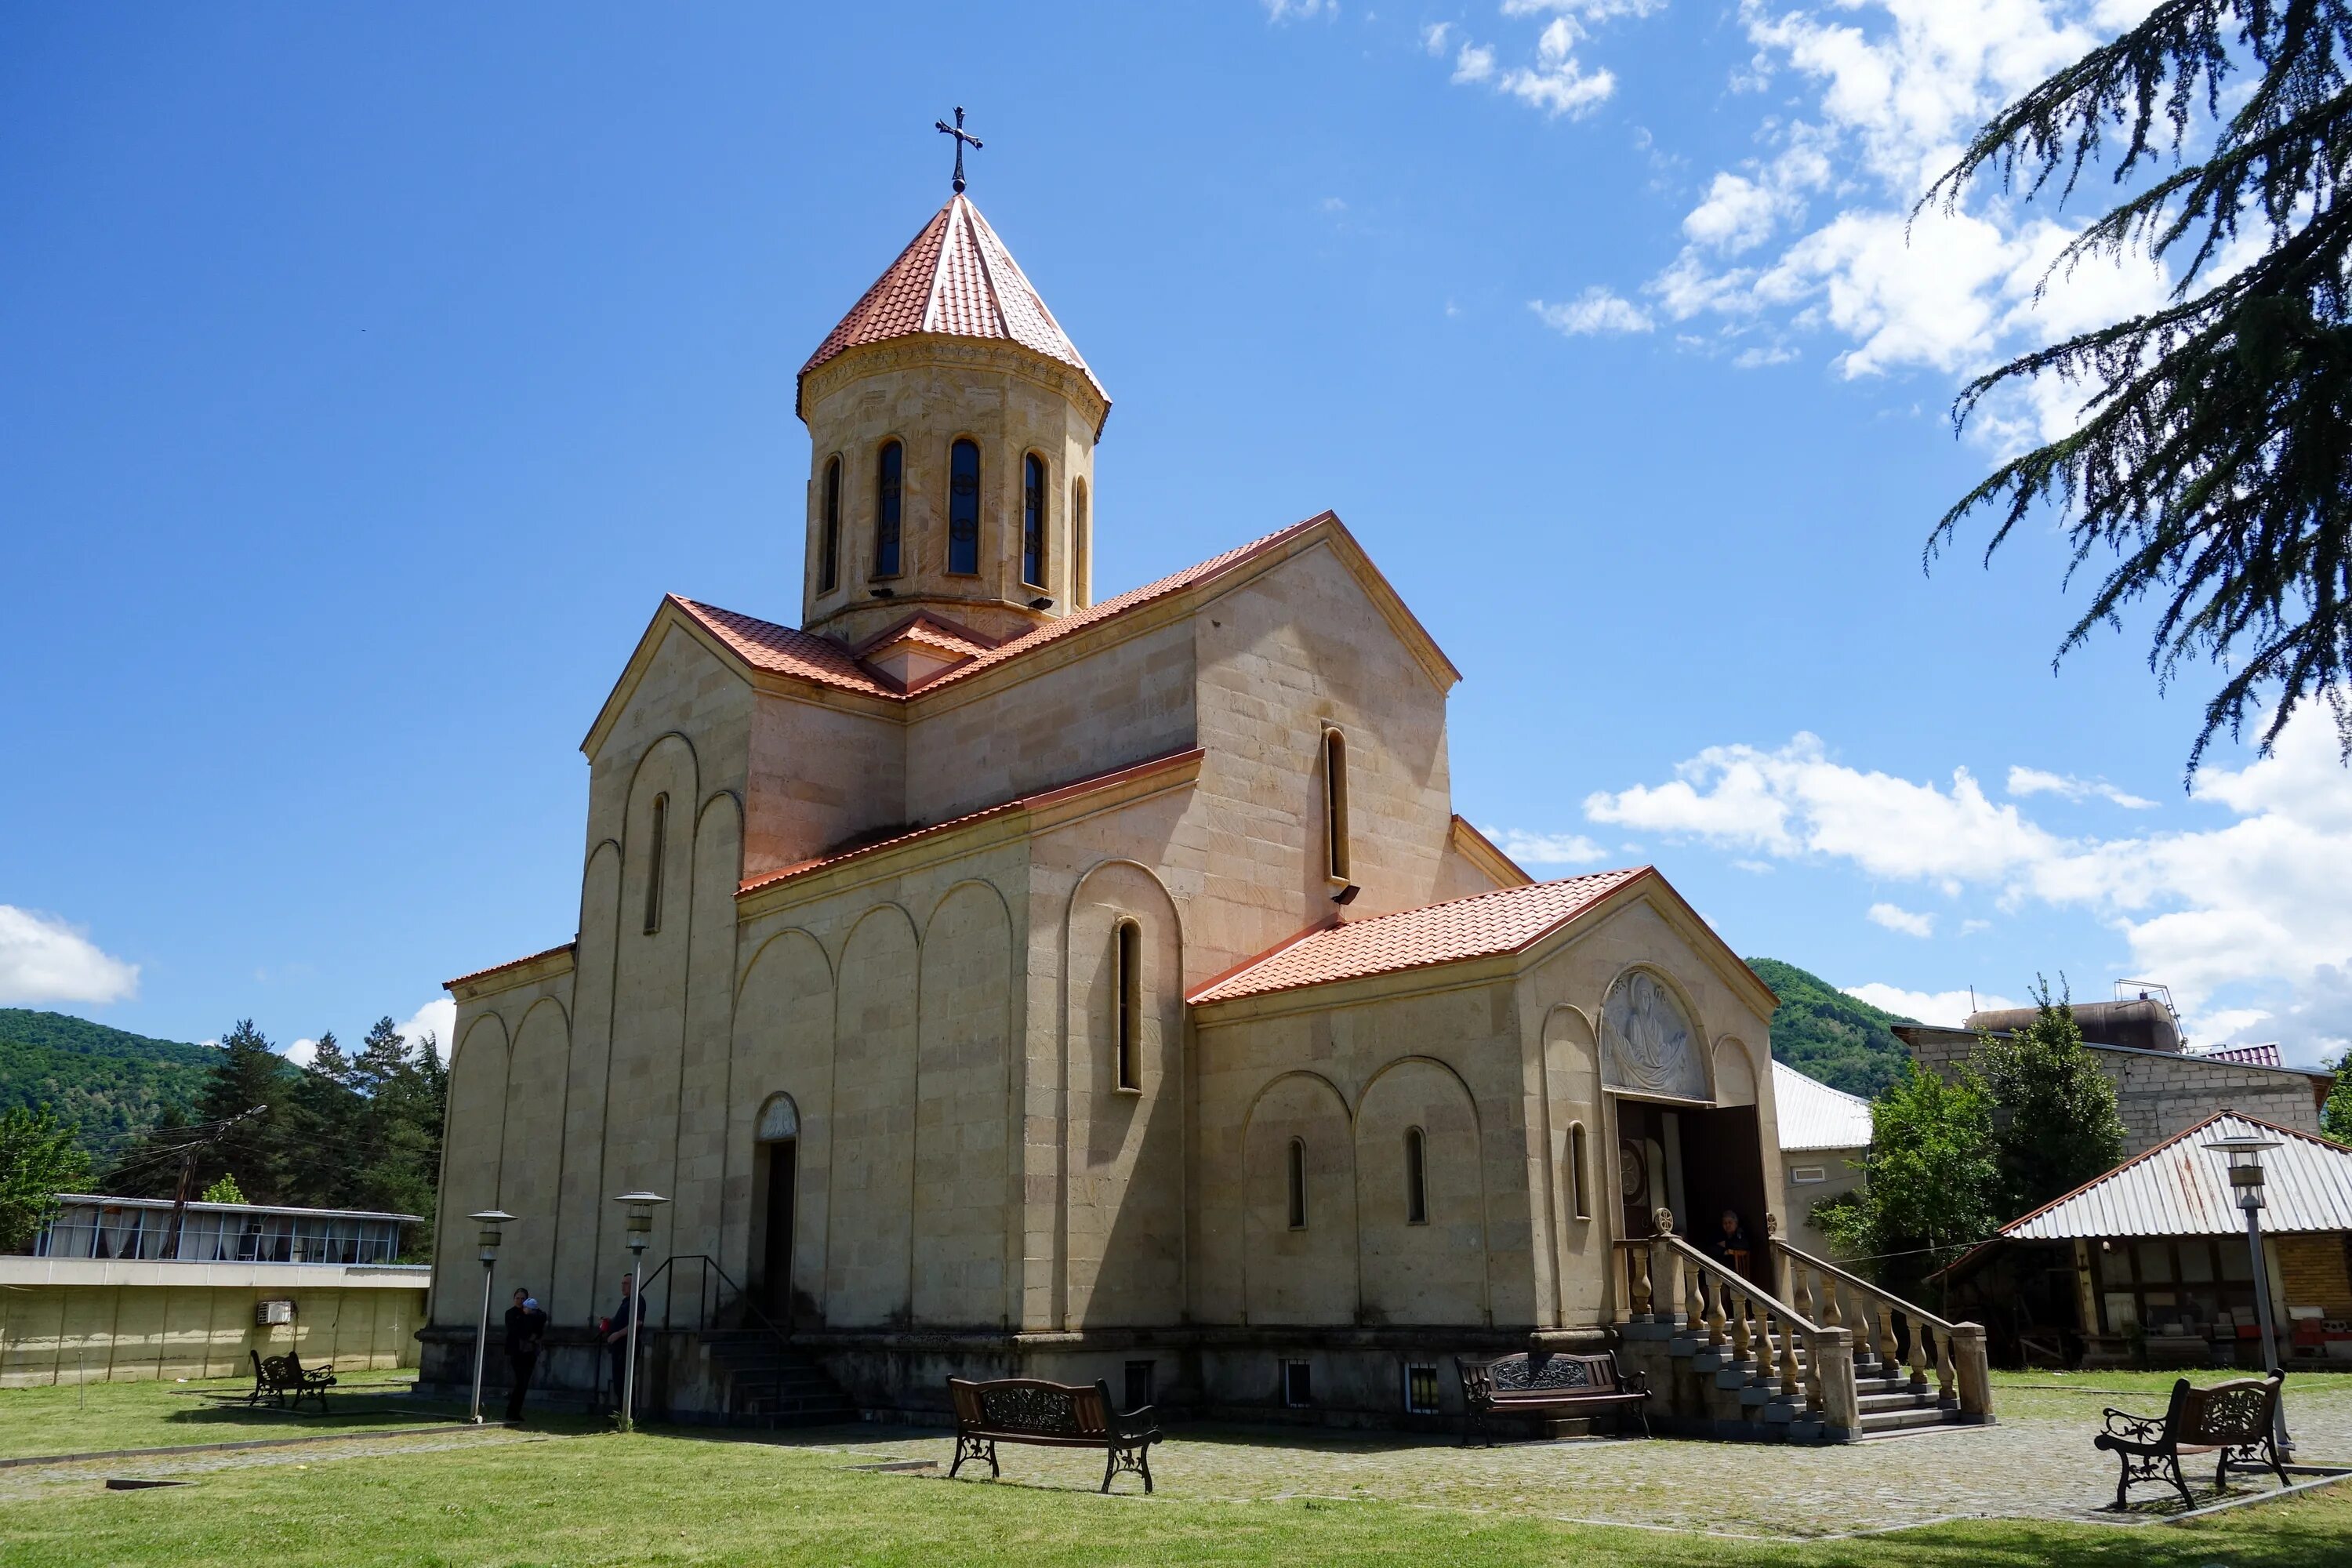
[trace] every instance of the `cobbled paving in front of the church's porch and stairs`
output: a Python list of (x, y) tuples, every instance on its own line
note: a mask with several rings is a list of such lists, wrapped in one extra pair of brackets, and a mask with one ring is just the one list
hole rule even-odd
[[(1999, 1403), (1994, 1427), (1842, 1448), (1675, 1439), (1454, 1448), (1399, 1436), (1185, 1425), (1152, 1448), (1152, 1479), (1164, 1497), (1388, 1500), (1771, 1540), (1959, 1516), (2112, 1521), (2096, 1512), (2114, 1497), (2114, 1458), (2091, 1448), (2100, 1408), (2161, 1408), (2164, 1399), (2107, 1392), (2086, 1378), (2065, 1392), (2004, 1392)], [(2288, 1418), (2298, 1460), (2352, 1462), (2352, 1378), (2343, 1389), (2298, 1394)], [(809, 1441), (856, 1462), (938, 1460), (936, 1472), (910, 1472), (922, 1483), (946, 1476), (955, 1448), (953, 1439), (913, 1427), (833, 1429)], [(1002, 1443), (997, 1458), (1002, 1483), (1091, 1493), (1103, 1479), (1101, 1455), (1084, 1450)], [(967, 1465), (960, 1483), (971, 1476)], [(978, 1479), (988, 1481), (985, 1465)], [(2251, 1481), (2244, 1486), (2256, 1490)], [(2199, 1500), (2209, 1488), (2211, 1465), (2204, 1465)], [(1122, 1476), (1115, 1490), (1141, 1495), (1141, 1483)], [(2157, 1488), (2133, 1488), (2133, 1497), (2154, 1502)]]

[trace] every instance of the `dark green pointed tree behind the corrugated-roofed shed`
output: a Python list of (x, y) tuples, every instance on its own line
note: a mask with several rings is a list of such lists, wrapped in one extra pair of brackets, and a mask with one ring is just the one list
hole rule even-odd
[(2067, 997), (2037, 980), (2039, 1011), (2011, 1039), (1985, 1034), (1969, 1056), (1992, 1098), (1992, 1159), (2004, 1220), (2082, 1187), (2124, 1161), (2114, 1084), (2082, 1044)]

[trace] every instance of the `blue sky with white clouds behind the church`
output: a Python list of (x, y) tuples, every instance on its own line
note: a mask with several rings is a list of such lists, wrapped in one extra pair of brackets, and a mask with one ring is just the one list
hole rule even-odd
[(16, 7), (0, 1004), (350, 1039), (569, 938), (579, 738), (663, 590), (793, 618), (793, 374), (964, 103), (1117, 402), (1103, 592), (1336, 508), (1536, 875), (1656, 860), (1922, 1016), (2145, 976), (2333, 1053), (2326, 719), (2190, 795), (2206, 672), (2053, 675), (2049, 529), (1922, 571), (2067, 418), (1955, 386), (2161, 277), (2037, 306), (2079, 214), (1905, 214), (2124, 9)]

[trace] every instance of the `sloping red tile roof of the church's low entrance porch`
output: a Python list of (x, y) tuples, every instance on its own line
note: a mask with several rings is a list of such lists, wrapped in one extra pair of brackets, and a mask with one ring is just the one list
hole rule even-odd
[(1192, 992), (1190, 1001), (1232, 1001), (1235, 997), (1258, 997), (1301, 985), (1522, 952), (1609, 893), (1653, 875), (1656, 870), (1649, 865), (1590, 872), (1494, 893), (1470, 893), (1343, 926), (1319, 926), (1218, 976)]

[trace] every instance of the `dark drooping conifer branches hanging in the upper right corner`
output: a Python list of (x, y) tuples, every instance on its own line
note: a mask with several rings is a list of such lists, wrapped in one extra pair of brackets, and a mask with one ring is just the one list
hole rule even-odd
[[(1929, 190), (1957, 207), (1980, 176), (2063, 207), (2084, 172), (2157, 174), (2053, 261), (2178, 261), (2169, 303), (2020, 355), (1971, 381), (1957, 423), (2004, 386), (2051, 374), (2086, 390), (2077, 430), (2002, 463), (1943, 515), (1992, 508), (1990, 557), (2034, 508), (2060, 508), (2072, 571), (2112, 557), (2058, 656), (2140, 599), (2161, 604), (2150, 668), (2206, 658), (2190, 771), (2272, 696), (2267, 750), (2319, 696), (2352, 762), (2352, 92), (2345, 0), (2164, 0), (2129, 33), (2004, 108)], [(2230, 87), (2232, 73), (2253, 80)], [(2227, 113), (2223, 103), (2230, 103)], [(2201, 155), (2199, 155), (2201, 153)], [(2225, 277), (2241, 242), (2260, 254)]]

